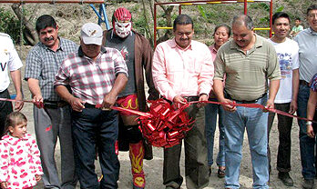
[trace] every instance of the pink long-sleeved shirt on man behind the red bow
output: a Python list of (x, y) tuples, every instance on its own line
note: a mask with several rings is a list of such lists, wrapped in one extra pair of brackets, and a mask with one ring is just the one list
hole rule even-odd
[(158, 44), (152, 65), (159, 94), (172, 101), (176, 95), (210, 94), (214, 68), (207, 45), (197, 41), (182, 49), (175, 39)]

